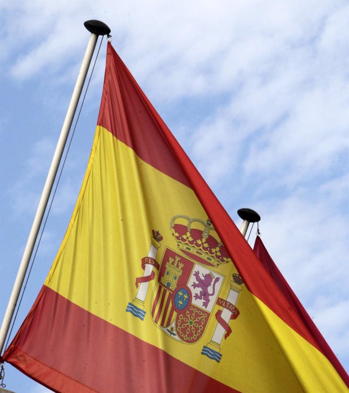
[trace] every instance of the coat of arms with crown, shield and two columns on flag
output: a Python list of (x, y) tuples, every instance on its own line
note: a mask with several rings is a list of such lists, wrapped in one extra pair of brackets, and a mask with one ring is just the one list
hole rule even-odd
[(239, 315), (235, 304), (242, 289), (241, 277), (233, 274), (229, 295), (222, 298), (221, 289), (227, 278), (217, 270), (232, 261), (209, 220), (177, 215), (172, 217), (170, 229), (177, 250), (166, 246), (161, 262), (157, 262), (163, 237), (153, 230), (149, 253), (142, 259), (143, 277), (136, 279), (138, 292), (126, 311), (144, 320), (149, 282), (158, 270), (149, 310), (153, 322), (174, 340), (193, 344), (200, 340), (212, 319), (216, 329), (201, 353), (220, 362), (223, 336), (227, 338), (231, 333), (229, 321)]

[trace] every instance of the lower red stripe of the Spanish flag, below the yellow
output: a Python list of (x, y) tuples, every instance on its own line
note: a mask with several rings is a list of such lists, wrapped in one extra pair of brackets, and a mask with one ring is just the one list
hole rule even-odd
[(65, 393), (238, 393), (45, 286), (2, 361)]

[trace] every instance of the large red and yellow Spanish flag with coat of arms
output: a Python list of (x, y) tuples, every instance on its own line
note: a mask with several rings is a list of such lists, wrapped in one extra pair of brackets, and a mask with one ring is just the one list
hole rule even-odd
[(2, 360), (57, 392), (347, 392), (108, 44), (67, 232)]

